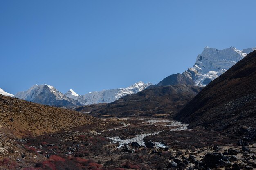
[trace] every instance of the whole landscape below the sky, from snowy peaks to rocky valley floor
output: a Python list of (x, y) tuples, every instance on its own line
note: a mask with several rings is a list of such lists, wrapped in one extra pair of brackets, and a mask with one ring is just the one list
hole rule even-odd
[(206, 47), (157, 85), (1, 90), (0, 169), (256, 169), (254, 50)]

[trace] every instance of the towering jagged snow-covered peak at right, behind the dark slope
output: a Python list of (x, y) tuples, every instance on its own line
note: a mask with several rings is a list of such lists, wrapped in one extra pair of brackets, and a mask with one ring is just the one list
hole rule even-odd
[(205, 47), (196, 58), (195, 65), (182, 74), (189, 76), (195, 85), (206, 86), (254, 50), (256, 48), (237, 50), (230, 47), (218, 50)]

